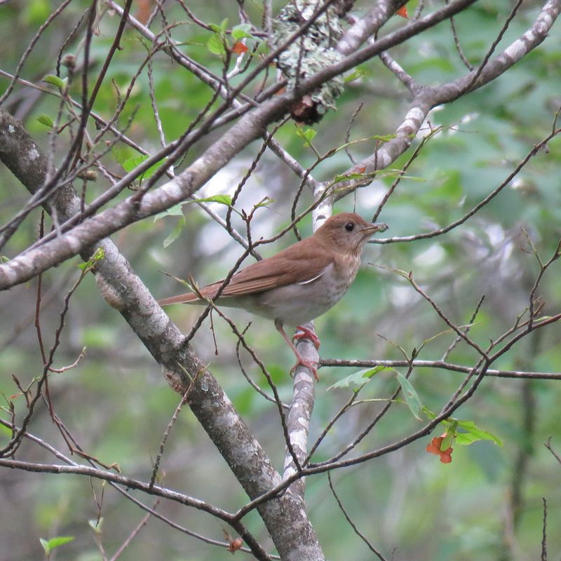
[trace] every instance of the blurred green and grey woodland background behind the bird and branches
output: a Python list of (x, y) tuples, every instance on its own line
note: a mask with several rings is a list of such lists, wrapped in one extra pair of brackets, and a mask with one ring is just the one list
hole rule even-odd
[[(8, 39), (0, 42), (1, 69), (13, 73), (23, 50), (56, 4), (49, 0), (15, 0), (0, 6), (0, 36)], [(430, 9), (441, 5), (426, 4)], [(466, 58), (473, 65), (487, 53), (513, 4), (483, 0), (458, 16), (457, 34)], [(53, 74), (61, 38), (69, 34), (87, 6), (85, 1), (73, 1), (55, 25), (46, 29), (25, 63), (23, 78), (39, 83), (44, 75)], [(134, 3), (134, 6), (135, 15), (140, 18), (143, 4)], [(273, 3), (273, 13), (282, 6), (281, 2)], [(367, 2), (357, 3), (356, 11), (360, 13), (369, 6)], [(410, 15), (417, 6), (416, 1), (408, 4)], [(238, 21), (235, 3), (210, 0), (195, 3), (191, 8), (205, 22), (219, 24), (224, 18)], [(497, 51), (525, 32), (540, 8), (540, 2), (525, 1)], [(245, 9), (258, 24), (262, 6), (248, 4)], [(166, 14), (169, 21), (182, 22), (173, 30), (173, 36), (184, 41), (185, 52), (220, 74), (220, 59), (205, 48), (209, 33), (185, 22), (184, 12), (174, 4), (166, 7)], [(111, 13), (100, 20), (92, 44), (94, 76), (99, 70), (95, 65), (106, 56), (118, 22), (119, 18)], [(393, 18), (384, 32), (403, 25), (404, 20)], [(105, 119), (116, 104), (116, 89), (126, 89), (130, 77), (147, 55), (139, 35), (130, 28), (121, 46), (94, 108)], [(73, 49), (79, 50), (77, 42), (71, 43), (65, 52)], [(391, 55), (419, 83), (431, 86), (452, 81), (467, 72), (454, 46), (450, 25), (446, 23), (394, 48)], [(433, 129), (442, 126), (442, 131), (420, 151), (407, 170), (407, 177), (381, 212), (379, 220), (390, 227), (386, 234), (411, 236), (444, 227), (498, 187), (534, 144), (552, 129), (555, 111), (561, 105), (560, 68), (561, 43), (557, 36), (551, 36), (489, 86), (433, 110), (428, 119), (430, 126)], [(313, 145), (320, 154), (346, 142), (351, 117), (361, 104), (362, 109), (350, 128), (350, 139), (367, 140), (351, 147), (356, 160), (372, 153), (373, 135), (393, 133), (405, 116), (409, 93), (379, 60), (368, 62), (358, 70), (359, 77), (346, 84), (337, 111), (330, 111), (313, 126), (317, 133)], [(171, 140), (198, 114), (208, 101), (210, 90), (162, 54), (154, 58), (153, 73), (163, 128)], [(0, 91), (7, 84), (8, 80), (0, 76)], [(57, 107), (55, 98), (24, 86), (17, 86), (4, 104), (4, 109), (25, 121), (44, 149), (48, 147), (48, 128), (37, 119), (41, 114), (56, 114)], [(156, 151), (159, 140), (146, 72), (136, 82), (121, 125), (133, 111), (128, 135), (149, 152)], [(205, 137), (187, 154), (186, 163), (193, 161), (221, 133), (217, 130)], [(422, 135), (427, 133), (428, 123)], [(420, 136), (414, 145), (421, 140)], [(281, 127), (276, 139), (304, 167), (315, 161), (315, 154), (297, 134), (295, 123)], [(233, 194), (259, 147), (259, 142), (252, 144), (199, 194)], [(61, 139), (60, 154), (64, 148)], [(392, 168), (401, 168), (411, 153), (410, 150), (404, 154)], [(123, 173), (119, 164), (134, 155), (132, 149), (116, 145), (105, 156), (105, 163)], [(418, 358), (442, 357), (454, 337), (450, 333), (435, 337), (447, 326), (396, 269), (412, 271), (417, 283), (457, 325), (469, 323), (485, 295), (471, 336), (482, 346), (489, 339), (498, 339), (527, 309), (529, 292), (539, 273), (539, 262), (528, 240), (546, 262), (561, 236), (560, 156), (561, 142), (556, 137), (550, 142), (549, 151), (541, 151), (529, 161), (499, 196), (445, 236), (414, 243), (367, 245), (356, 283), (342, 302), (316, 320), (322, 340), (321, 358), (400, 359), (403, 353), (399, 347), (411, 353), (423, 344)], [(313, 176), (317, 180), (330, 180), (351, 165), (345, 151), (340, 150), (321, 163)], [(391, 175), (381, 174), (372, 185), (357, 191), (356, 196), (339, 201), (334, 211), (356, 208), (365, 219), (370, 219), (391, 182)], [(271, 152), (266, 152), (236, 203), (238, 210), (251, 210), (264, 197), (273, 199), (273, 203), (256, 212), (252, 222), (254, 239), (269, 238), (290, 223), (290, 208), (298, 185), (299, 180), (292, 171)], [(88, 187), (88, 196), (99, 195), (107, 186), (100, 178)], [(0, 196), (0, 219), (4, 224), (25, 203), (27, 192), (3, 167), (0, 167)], [(309, 203), (311, 194), (304, 189), (299, 210)], [(224, 205), (210, 203), (210, 206), (225, 217)], [(4, 255), (9, 258), (32, 243), (38, 234), (38, 224), (39, 212), (35, 212), (4, 248)], [(244, 233), (244, 224), (235, 214), (233, 224)], [(310, 220), (304, 219), (299, 229), (303, 236), (310, 235)], [(174, 231), (179, 235), (168, 244)], [(162, 271), (180, 278), (190, 273), (202, 285), (222, 278), (243, 252), (222, 227), (193, 204), (184, 206), (184, 221), (177, 216), (146, 219), (112, 239), (156, 298), (184, 291)], [(264, 256), (272, 255), (294, 241), (295, 236), (288, 233), (275, 243), (262, 246), (260, 252)], [(79, 277), (78, 264), (78, 259), (71, 259), (43, 274), (40, 322), (47, 350), (53, 344), (63, 299)], [(544, 316), (559, 313), (561, 309), (558, 279), (559, 267), (553, 264), (538, 290), (545, 302)], [(0, 391), (4, 407), (8, 398), (18, 394), (13, 375), (22, 386), (27, 386), (42, 371), (34, 327), (36, 290), (37, 282), (33, 280), (0, 292)], [(200, 313), (190, 306), (173, 306), (166, 311), (184, 332), (191, 329)], [(290, 400), (292, 384), (288, 370), (293, 357), (272, 323), (252, 318), (243, 311), (231, 311), (229, 316), (238, 327), (252, 321), (246, 334), (248, 342), (271, 372), (283, 399)], [(236, 336), (230, 327), (215, 318), (214, 331), (217, 353), (208, 320), (194, 337), (194, 347), (202, 360), (210, 363), (210, 370), (255, 431), (276, 468), (282, 470), (284, 440), (276, 407), (259, 396), (243, 378), (236, 358)], [(494, 367), (560, 372), (559, 340), (557, 325), (534, 332)], [(106, 464), (118, 463), (130, 477), (147, 480), (179, 396), (165, 384), (160, 367), (119, 313), (100, 297), (91, 275), (86, 276), (71, 300), (55, 367), (73, 363), (84, 346), (86, 356), (77, 367), (50, 376), (55, 412), (88, 454)], [(253, 379), (266, 387), (259, 369), (243, 351), (241, 359)], [(449, 360), (472, 366), (477, 357), (473, 349), (460, 344)], [(356, 370), (359, 369), (324, 367), (320, 370), (311, 441), (353, 391), (327, 388)], [(447, 403), (461, 380), (461, 374), (428, 368), (414, 370), (410, 378), (421, 402), (433, 411)], [(370, 400), (387, 398), (395, 387), (395, 375), (381, 372), (360, 396)], [(552, 558), (559, 557), (561, 537), (554, 529), (561, 524), (561, 466), (543, 443), (551, 437), (551, 445), (561, 452), (560, 400), (558, 381), (485, 379), (476, 395), (457, 412), (457, 417), (472, 420), (497, 435), (503, 440), (503, 447), (491, 441), (457, 446), (452, 464), (444, 465), (438, 457), (426, 454), (429, 438), (421, 439), (379, 459), (334, 472), (335, 488), (362, 532), (394, 561), (537, 559), (541, 554), (542, 497), (545, 497), (549, 552)], [(14, 403), (16, 411), (23, 412), (23, 398), (16, 396)], [(327, 435), (314, 460), (327, 459), (341, 450), (380, 407), (381, 403), (377, 402), (353, 407)], [(2, 415), (8, 418), (6, 412)], [(405, 405), (396, 404), (376, 430), (360, 443), (356, 453), (399, 440), (419, 426)], [(44, 405), (36, 411), (29, 431), (67, 453)], [(9, 438), (3, 427), (0, 435), (0, 444)], [(30, 442), (22, 445), (16, 458), (53, 462), (53, 457)], [(161, 475), (163, 485), (220, 508), (235, 510), (247, 501), (187, 408), (173, 428)], [(0, 560), (41, 559), (44, 553), (39, 539), (52, 536), (75, 539), (56, 550), (51, 558), (97, 560), (101, 558), (98, 543), (102, 543), (107, 557), (111, 557), (144, 513), (114, 489), (102, 487), (98, 481), (77, 476), (3, 469), (0, 472)], [(140, 495), (138, 498), (147, 499)], [(306, 499), (328, 558), (372, 558), (370, 550), (353, 534), (339, 511), (327, 486), (327, 475), (308, 478)], [(97, 506), (100, 501), (104, 522), (101, 533), (95, 534), (88, 521), (100, 514)], [(157, 510), (195, 532), (224, 539), (219, 522), (202, 513), (173, 503), (161, 503)], [(271, 548), (257, 515), (249, 515), (246, 522), (262, 543)], [(119, 558), (202, 561), (229, 558), (228, 555), (151, 519)]]

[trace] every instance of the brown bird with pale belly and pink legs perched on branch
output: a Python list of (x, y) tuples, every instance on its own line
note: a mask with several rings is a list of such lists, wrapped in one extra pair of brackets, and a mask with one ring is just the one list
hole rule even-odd
[[(321, 316), (337, 304), (353, 282), (360, 265), (360, 251), (370, 236), (385, 231), (386, 224), (368, 224), (359, 215), (342, 212), (328, 218), (313, 236), (290, 245), (272, 257), (242, 269), (230, 279), (216, 304), (243, 308), (269, 318), (295, 353), (297, 363), (309, 368), (316, 380), (316, 367), (297, 351), (283, 325), (294, 325), (316, 346), (320, 341), (302, 323)], [(222, 280), (200, 289), (212, 299)], [(204, 304), (193, 292), (164, 298), (158, 304)]]

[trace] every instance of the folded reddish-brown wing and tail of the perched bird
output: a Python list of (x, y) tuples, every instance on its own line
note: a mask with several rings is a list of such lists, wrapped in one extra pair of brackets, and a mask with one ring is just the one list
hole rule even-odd
[[(332, 264), (329, 252), (318, 246), (317, 241), (310, 243), (313, 238), (305, 238), (294, 245), (290, 245), (273, 257), (262, 259), (236, 273), (220, 297), (241, 296), (254, 294), (290, 285), (292, 283), (305, 284), (319, 278)], [(206, 285), (200, 289), (203, 296), (212, 298), (222, 280)], [(173, 296), (160, 300), (158, 304), (180, 304), (196, 302), (198, 298), (193, 292)]]

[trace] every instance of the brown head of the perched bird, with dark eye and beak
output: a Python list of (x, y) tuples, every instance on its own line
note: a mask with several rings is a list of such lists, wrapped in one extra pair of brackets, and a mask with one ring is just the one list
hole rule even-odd
[(339, 252), (358, 254), (370, 236), (387, 229), (386, 224), (369, 224), (353, 212), (341, 212), (328, 218), (314, 236)]

